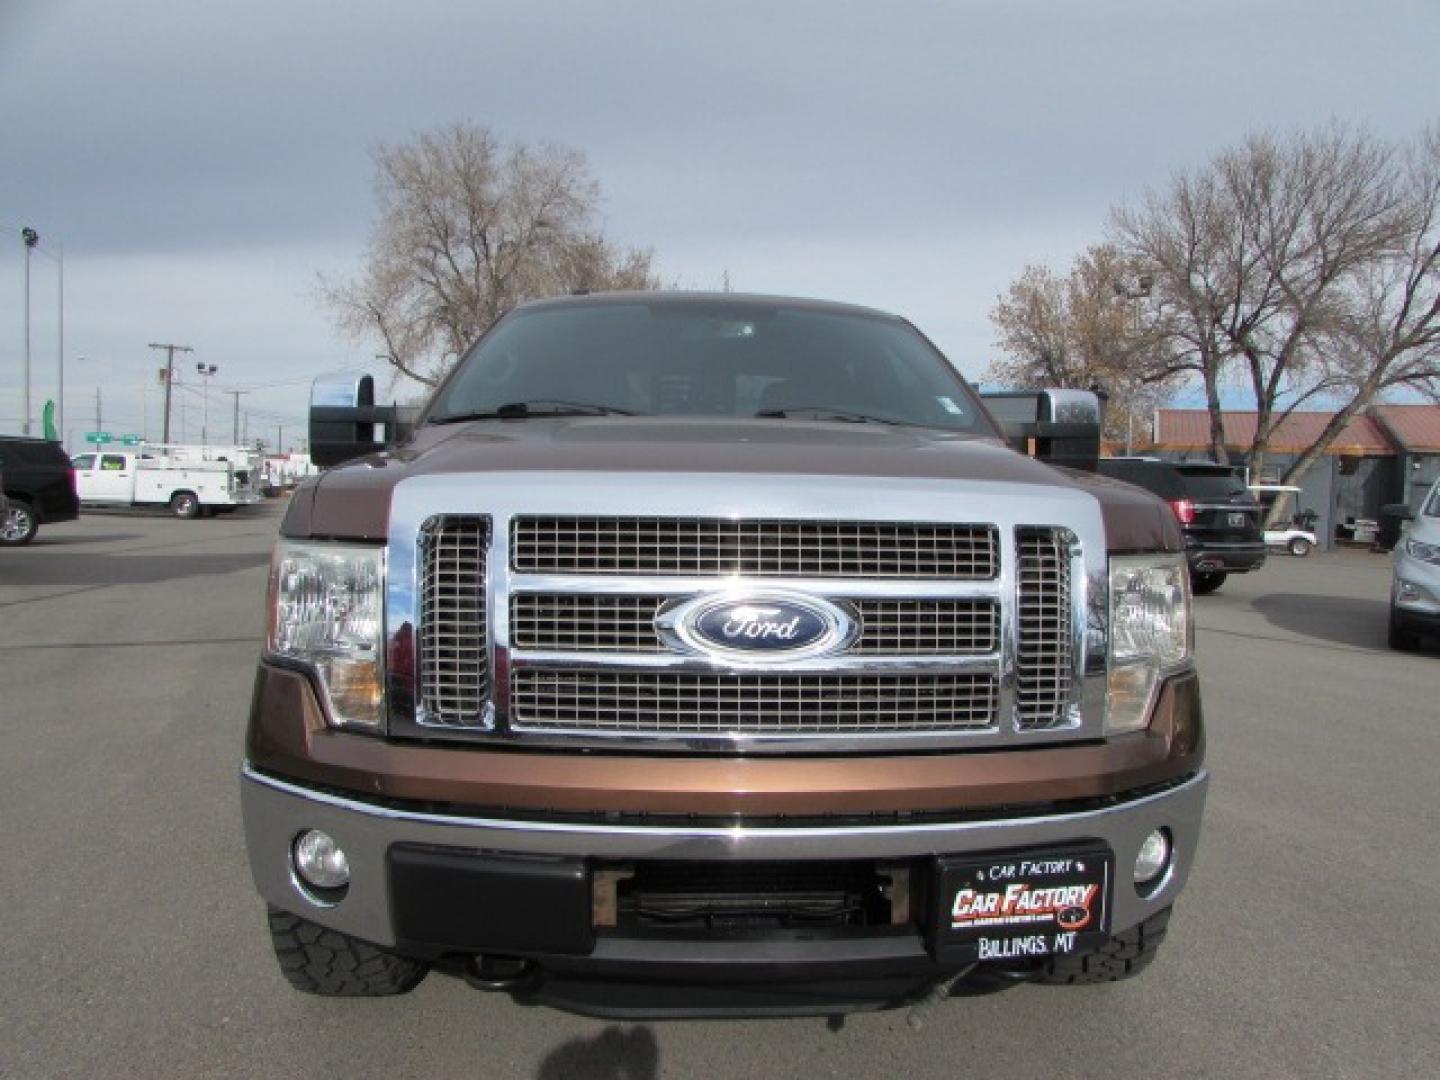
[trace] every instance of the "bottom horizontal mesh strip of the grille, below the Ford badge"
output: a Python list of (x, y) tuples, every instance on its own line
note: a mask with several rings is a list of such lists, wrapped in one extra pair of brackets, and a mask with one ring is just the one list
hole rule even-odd
[(792, 675), (518, 668), (510, 719), (523, 732), (870, 734), (994, 723), (992, 675)]

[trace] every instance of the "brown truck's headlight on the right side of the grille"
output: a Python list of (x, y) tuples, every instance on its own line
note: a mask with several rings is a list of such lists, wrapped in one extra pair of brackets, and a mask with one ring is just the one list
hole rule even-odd
[(1189, 570), (1182, 554), (1110, 559), (1107, 734), (1145, 727), (1161, 678), (1191, 655)]

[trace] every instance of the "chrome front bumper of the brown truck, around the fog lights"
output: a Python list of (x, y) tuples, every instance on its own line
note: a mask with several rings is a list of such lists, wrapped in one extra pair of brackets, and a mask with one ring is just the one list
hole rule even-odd
[[(639, 827), (579, 825), (400, 811), (314, 792), (245, 766), (240, 805), (251, 873), (271, 904), (376, 945), (395, 945), (386, 855), (393, 844), (433, 844), (513, 855), (606, 860), (897, 860), (937, 854), (1014, 851), (1100, 840), (1116, 857), (1112, 930), (1166, 907), (1185, 884), (1200, 841), (1210, 776), (1204, 770), (1159, 793), (1104, 809), (953, 824), (868, 827)], [(1130, 886), (1140, 842), (1169, 829), (1171, 867), (1158, 888)], [(328, 832), (350, 861), (350, 888), (338, 903), (311, 897), (295, 880), (291, 844), (307, 828)]]

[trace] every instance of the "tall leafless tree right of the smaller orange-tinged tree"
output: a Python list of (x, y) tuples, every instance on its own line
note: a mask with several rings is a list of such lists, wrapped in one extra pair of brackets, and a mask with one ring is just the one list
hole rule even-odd
[(1217, 461), (1227, 461), (1220, 389), (1237, 376), (1257, 413), (1250, 467), (1279, 423), (1339, 386), (1319, 343), (1356, 274), (1403, 230), (1394, 150), (1329, 127), (1257, 134), (1112, 213), (1120, 251), (1155, 275), (1172, 370), (1201, 377)]

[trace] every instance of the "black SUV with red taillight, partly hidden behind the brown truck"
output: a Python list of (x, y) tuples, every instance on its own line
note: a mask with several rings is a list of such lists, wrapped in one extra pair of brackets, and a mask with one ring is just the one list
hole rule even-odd
[(1227, 575), (1264, 564), (1260, 503), (1228, 465), (1102, 458), (1100, 474), (1169, 503), (1185, 531), (1189, 580), (1197, 593), (1214, 592)]

